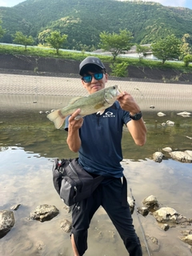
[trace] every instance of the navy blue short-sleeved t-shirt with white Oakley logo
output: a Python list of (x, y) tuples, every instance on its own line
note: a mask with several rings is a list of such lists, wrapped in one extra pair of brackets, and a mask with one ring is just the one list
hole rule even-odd
[(89, 173), (122, 177), (122, 127), (130, 121), (129, 112), (122, 110), (117, 101), (102, 115), (90, 114), (83, 119), (83, 125), (79, 129), (82, 146), (78, 150), (78, 162)]

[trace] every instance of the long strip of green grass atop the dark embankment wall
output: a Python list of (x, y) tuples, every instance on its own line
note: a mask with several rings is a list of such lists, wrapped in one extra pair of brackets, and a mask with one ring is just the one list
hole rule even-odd
[[(56, 54), (56, 50), (50, 48), (42, 48), (36, 46), (27, 46), (25, 50), (24, 46), (8, 46), (8, 45), (0, 45), (0, 54), (18, 54), (18, 55), (30, 55), (30, 56), (38, 56), (42, 58), (65, 58), (65, 59), (73, 59), (76, 61), (82, 61), (90, 54), (86, 54), (85, 52), (73, 52), (73, 51), (64, 51), (59, 50), (59, 54)], [(93, 56), (98, 57), (98, 54), (92, 54)], [(110, 56), (99, 55), (99, 58), (102, 62), (112, 63), (113, 58)], [(192, 64), (189, 66), (184, 66), (184, 62), (169, 62), (166, 61), (162, 64), (161, 61), (142, 59), (138, 58), (116, 58), (116, 62), (127, 62), (130, 66), (148, 66), (151, 69), (163, 68), (163, 69), (174, 69), (181, 70), (183, 73), (192, 72)]]

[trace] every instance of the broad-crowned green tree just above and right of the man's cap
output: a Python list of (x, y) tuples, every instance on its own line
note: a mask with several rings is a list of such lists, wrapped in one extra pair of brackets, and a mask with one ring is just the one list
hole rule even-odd
[(99, 37), (99, 46), (103, 50), (111, 51), (114, 60), (118, 54), (126, 54), (126, 50), (130, 50), (130, 47), (133, 46), (133, 43), (131, 43), (133, 36), (128, 30), (119, 30), (119, 34), (114, 32), (110, 34), (103, 31), (101, 34), (99, 34)]

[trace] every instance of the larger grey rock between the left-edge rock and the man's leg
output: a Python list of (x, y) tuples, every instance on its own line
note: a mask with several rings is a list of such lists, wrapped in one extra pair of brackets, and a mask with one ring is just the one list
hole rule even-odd
[(48, 221), (59, 214), (59, 210), (55, 206), (41, 205), (38, 206), (34, 213), (30, 213), (30, 218), (40, 222)]

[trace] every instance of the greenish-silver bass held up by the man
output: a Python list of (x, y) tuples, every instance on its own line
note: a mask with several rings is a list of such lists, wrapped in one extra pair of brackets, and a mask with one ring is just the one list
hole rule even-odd
[(59, 129), (66, 117), (73, 114), (75, 110), (81, 109), (80, 114), (75, 118), (76, 120), (89, 114), (103, 114), (106, 108), (112, 106), (117, 98), (123, 94), (120, 86), (106, 87), (88, 96), (72, 98), (67, 106), (54, 110), (46, 117), (54, 122), (55, 128)]

